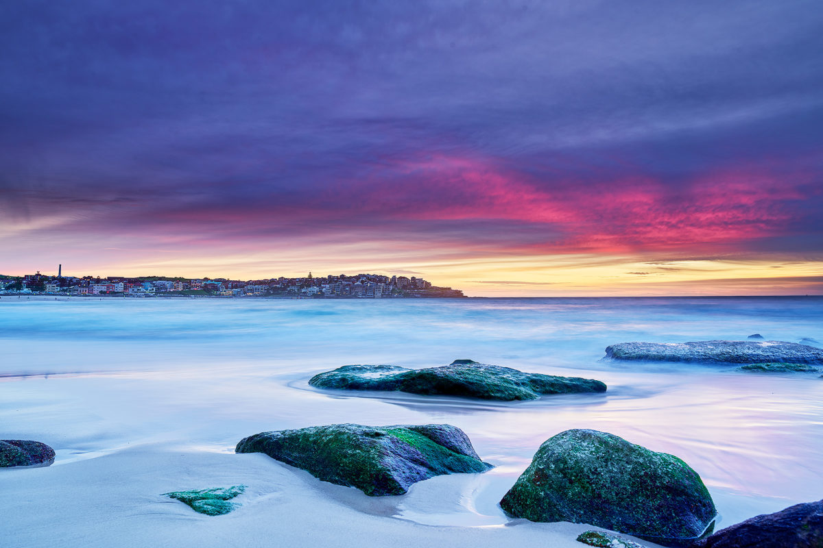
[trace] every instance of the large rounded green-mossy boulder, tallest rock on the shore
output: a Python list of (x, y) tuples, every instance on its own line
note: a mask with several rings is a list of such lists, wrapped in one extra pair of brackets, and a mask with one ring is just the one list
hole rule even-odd
[(701, 536), (717, 513), (680, 458), (593, 430), (546, 440), (500, 506), (514, 518), (589, 523), (668, 546)]

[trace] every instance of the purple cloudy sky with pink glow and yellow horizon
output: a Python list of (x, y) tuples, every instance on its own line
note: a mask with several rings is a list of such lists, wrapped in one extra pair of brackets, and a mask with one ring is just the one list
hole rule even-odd
[(0, 4), (0, 274), (823, 294), (820, 2)]

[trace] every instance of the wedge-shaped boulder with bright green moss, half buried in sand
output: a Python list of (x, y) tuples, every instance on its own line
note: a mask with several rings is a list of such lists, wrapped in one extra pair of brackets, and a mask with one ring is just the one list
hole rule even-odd
[(237, 453), (265, 453), (366, 495), (402, 495), (416, 481), (455, 472), (486, 472), (468, 436), (448, 424), (335, 424), (262, 432), (240, 440)]

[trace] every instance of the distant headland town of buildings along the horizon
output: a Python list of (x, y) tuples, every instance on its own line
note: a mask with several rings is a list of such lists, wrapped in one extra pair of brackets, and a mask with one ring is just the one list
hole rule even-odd
[(283, 297), (283, 298), (421, 298), (465, 297), (459, 289), (439, 288), (412, 276), (328, 275), (305, 278), (236, 280), (225, 278), (171, 278), (145, 276), (0, 275), (0, 296), (54, 295), (72, 297)]

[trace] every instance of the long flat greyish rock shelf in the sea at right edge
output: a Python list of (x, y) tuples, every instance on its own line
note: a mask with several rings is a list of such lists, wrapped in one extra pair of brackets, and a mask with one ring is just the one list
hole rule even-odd
[(704, 363), (823, 364), (823, 350), (780, 341), (696, 341), (692, 343), (620, 343), (606, 348), (612, 360), (695, 361)]

